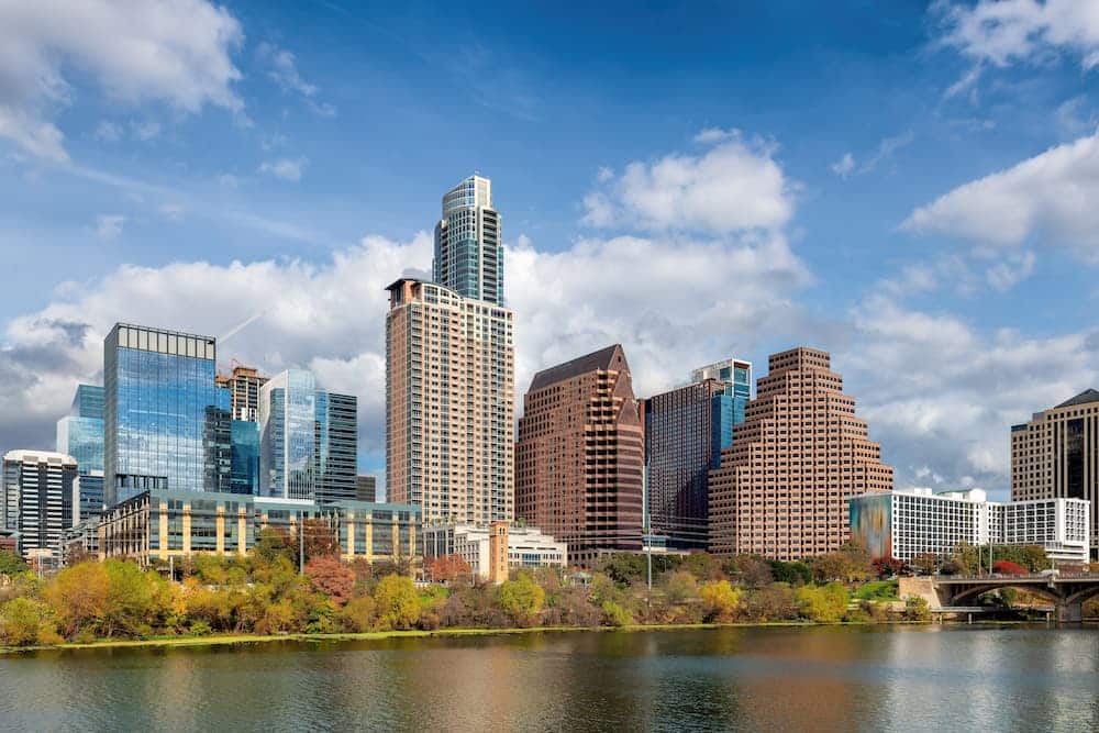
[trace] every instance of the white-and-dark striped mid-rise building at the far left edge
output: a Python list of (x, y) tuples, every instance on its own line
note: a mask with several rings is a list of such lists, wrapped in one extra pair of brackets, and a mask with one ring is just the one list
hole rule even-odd
[(62, 535), (73, 526), (77, 463), (46, 451), (10, 451), (3, 457), (3, 526), (18, 533), (23, 557), (60, 560)]

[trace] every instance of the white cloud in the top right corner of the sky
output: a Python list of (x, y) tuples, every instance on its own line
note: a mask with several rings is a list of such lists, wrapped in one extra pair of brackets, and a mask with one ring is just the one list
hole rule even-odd
[(1008, 66), (1068, 51), (1090, 69), (1099, 63), (1099, 4), (1090, 0), (939, 2), (942, 43), (978, 64)]

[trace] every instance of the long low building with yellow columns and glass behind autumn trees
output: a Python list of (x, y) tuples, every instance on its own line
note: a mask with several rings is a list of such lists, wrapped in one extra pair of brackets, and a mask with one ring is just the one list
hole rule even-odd
[(296, 540), (308, 520), (328, 524), (345, 560), (421, 558), (417, 507), (170, 490), (147, 491), (110, 509), (99, 527), (100, 556), (147, 565), (195, 554), (243, 555), (264, 529), (280, 529)]

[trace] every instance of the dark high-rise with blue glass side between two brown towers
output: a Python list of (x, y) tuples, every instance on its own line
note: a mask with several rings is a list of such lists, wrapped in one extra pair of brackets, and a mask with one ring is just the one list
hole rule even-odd
[(670, 547), (709, 543), (709, 471), (744, 422), (752, 365), (729, 359), (696, 369), (692, 381), (644, 400), (645, 465), (653, 532)]

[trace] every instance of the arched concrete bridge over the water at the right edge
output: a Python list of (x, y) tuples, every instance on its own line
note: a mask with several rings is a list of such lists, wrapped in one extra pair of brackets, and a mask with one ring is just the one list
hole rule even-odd
[(972, 610), (983, 593), (1015, 588), (1053, 601), (1058, 621), (1080, 621), (1084, 601), (1099, 596), (1099, 573), (936, 575), (901, 578), (900, 597), (919, 596), (932, 612)]

